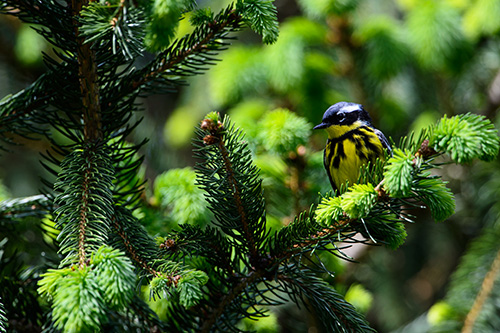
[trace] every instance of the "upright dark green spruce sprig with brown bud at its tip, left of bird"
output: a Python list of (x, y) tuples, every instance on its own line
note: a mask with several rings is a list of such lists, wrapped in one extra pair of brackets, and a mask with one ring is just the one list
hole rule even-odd
[(227, 117), (223, 122), (218, 118), (208, 115), (198, 129), (203, 138), (195, 143), (195, 155), (202, 160), (196, 166), (198, 182), (222, 230), (248, 251), (252, 265), (258, 265), (266, 238), (261, 180), (241, 132)]

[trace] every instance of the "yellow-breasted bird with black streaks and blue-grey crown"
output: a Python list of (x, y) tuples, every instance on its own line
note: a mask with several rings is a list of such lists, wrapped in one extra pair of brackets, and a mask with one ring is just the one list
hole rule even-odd
[(346, 181), (358, 180), (359, 169), (377, 158), (384, 158), (384, 149), (391, 147), (384, 133), (373, 127), (368, 112), (360, 104), (339, 102), (326, 110), (321, 124), (328, 133), (323, 162), (334, 190)]

